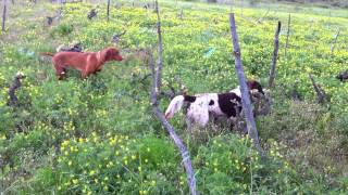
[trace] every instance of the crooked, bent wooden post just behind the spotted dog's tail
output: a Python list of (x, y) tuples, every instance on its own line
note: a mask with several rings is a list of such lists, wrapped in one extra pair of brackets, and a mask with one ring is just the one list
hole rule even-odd
[(165, 119), (164, 114), (161, 112), (161, 109), (158, 107), (158, 94), (161, 83), (161, 74), (162, 74), (162, 66), (163, 66), (163, 57), (162, 57), (162, 35), (161, 35), (161, 23), (160, 23), (160, 15), (159, 15), (159, 9), (158, 9), (158, 2), (156, 1), (157, 6), (157, 13), (158, 13), (158, 34), (159, 34), (159, 46), (158, 46), (158, 61), (157, 65), (159, 67), (154, 67), (153, 56), (152, 53), (150, 53), (150, 68), (151, 68), (151, 75), (152, 75), (152, 90), (151, 90), (151, 103), (152, 103), (152, 110), (156, 115), (156, 117), (162, 122), (163, 127), (169, 132), (170, 136), (174, 141), (176, 147), (178, 148), (182, 158), (183, 158), (183, 165), (186, 170), (187, 174), (187, 182), (189, 186), (189, 191), (192, 195), (197, 195), (197, 188), (196, 188), (196, 178), (195, 178), (195, 171), (192, 169), (192, 164), (189, 157), (189, 153), (184, 145), (183, 141), (179, 139), (179, 136), (175, 133), (175, 129), (171, 126), (171, 123)]

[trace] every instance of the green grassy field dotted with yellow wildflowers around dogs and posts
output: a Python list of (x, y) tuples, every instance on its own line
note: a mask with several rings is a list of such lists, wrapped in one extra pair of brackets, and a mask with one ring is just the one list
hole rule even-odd
[[(141, 49), (156, 51), (157, 15), (145, 3), (117, 1), (109, 23), (104, 3), (10, 3), (7, 31), (0, 35), (0, 194), (188, 194), (181, 156), (150, 106), (150, 70)], [(183, 114), (171, 120), (190, 152), (198, 191), (346, 194), (348, 86), (335, 77), (348, 64), (348, 11), (289, 3), (160, 1), (160, 6), (164, 91), (178, 90), (178, 80), (190, 94), (237, 86), (232, 11), (246, 75), (266, 86), (274, 30), (278, 21), (283, 24), (272, 112), (257, 119), (268, 159), (260, 158), (248, 138), (223, 127), (211, 125), (192, 140)], [(92, 8), (98, 15), (88, 20)], [(59, 9), (61, 20), (49, 26), (46, 17)], [(123, 31), (113, 43), (112, 36)], [(125, 60), (86, 80), (70, 69), (58, 81), (39, 52), (74, 42), (85, 51), (116, 46)], [(16, 92), (17, 106), (9, 106), (8, 90), (17, 72), (26, 78)], [(328, 103), (315, 103), (308, 74)], [(161, 99), (163, 110), (169, 102)]]

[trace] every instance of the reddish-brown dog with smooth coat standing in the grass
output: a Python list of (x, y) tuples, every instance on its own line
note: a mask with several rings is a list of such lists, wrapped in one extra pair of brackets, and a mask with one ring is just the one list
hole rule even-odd
[(65, 75), (67, 67), (78, 69), (83, 78), (90, 74), (101, 70), (102, 65), (108, 61), (122, 61), (120, 52), (115, 48), (107, 48), (99, 52), (58, 52), (41, 53), (42, 55), (52, 56), (52, 63), (55, 68), (55, 74), (61, 80)]

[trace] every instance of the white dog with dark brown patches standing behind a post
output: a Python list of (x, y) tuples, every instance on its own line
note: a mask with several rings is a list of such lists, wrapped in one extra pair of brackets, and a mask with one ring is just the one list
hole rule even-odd
[[(250, 91), (256, 90), (264, 94), (261, 84), (256, 80), (247, 81)], [(175, 96), (165, 110), (165, 118), (170, 119), (178, 112), (184, 103), (189, 103), (186, 113), (186, 122), (188, 128), (191, 123), (199, 127), (206, 127), (209, 116), (227, 117), (228, 119), (237, 117), (241, 112), (241, 98), (239, 87), (227, 93), (204, 93), (196, 95)]]

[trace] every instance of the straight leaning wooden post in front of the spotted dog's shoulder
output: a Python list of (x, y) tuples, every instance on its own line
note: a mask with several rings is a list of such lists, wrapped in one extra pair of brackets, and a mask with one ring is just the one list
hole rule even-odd
[(232, 34), (232, 43), (233, 43), (234, 55), (235, 55), (235, 68), (236, 68), (236, 73), (237, 73), (237, 77), (240, 86), (241, 104), (243, 104), (244, 114), (247, 120), (248, 134), (249, 134), (249, 138), (252, 139), (252, 142), (256, 148), (259, 152), (262, 152), (260, 142), (259, 142), (257, 125), (253, 118), (249, 89), (246, 82), (246, 78), (245, 78), (245, 74), (241, 65), (238, 35), (236, 30), (235, 16), (233, 13), (229, 14), (229, 25), (231, 25), (231, 34)]

